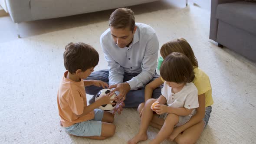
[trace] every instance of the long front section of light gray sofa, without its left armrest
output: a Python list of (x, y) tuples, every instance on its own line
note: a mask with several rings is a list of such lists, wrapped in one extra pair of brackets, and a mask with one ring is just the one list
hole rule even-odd
[(33, 20), (71, 16), (156, 0), (30, 0)]

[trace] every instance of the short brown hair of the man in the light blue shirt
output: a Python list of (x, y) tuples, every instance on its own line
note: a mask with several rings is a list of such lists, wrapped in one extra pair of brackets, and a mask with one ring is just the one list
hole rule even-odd
[(109, 26), (118, 29), (125, 29), (130, 27), (130, 30), (133, 32), (135, 28), (135, 18), (134, 12), (128, 8), (119, 8), (116, 9), (109, 17)]

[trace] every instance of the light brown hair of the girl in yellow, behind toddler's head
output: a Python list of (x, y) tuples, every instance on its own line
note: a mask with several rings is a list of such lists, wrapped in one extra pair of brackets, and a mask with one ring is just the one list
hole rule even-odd
[(163, 58), (172, 52), (183, 53), (188, 59), (190, 59), (190, 62), (194, 67), (198, 67), (197, 58), (195, 57), (194, 52), (189, 43), (187, 43), (186, 39), (180, 38), (171, 40), (165, 43), (160, 49), (160, 54)]

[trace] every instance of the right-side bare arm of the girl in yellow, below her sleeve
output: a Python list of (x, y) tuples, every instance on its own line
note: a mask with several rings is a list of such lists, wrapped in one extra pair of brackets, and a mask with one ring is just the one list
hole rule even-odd
[(180, 127), (175, 128), (175, 131), (178, 131), (181, 133), (182, 131), (185, 131), (187, 128), (190, 128), (191, 126), (199, 123), (204, 118), (205, 113), (205, 95), (198, 95), (198, 103), (199, 107), (196, 108), (197, 113), (184, 125), (181, 125)]

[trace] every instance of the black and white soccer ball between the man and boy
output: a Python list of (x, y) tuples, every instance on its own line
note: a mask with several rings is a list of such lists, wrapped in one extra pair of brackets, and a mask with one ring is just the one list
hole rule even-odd
[[(97, 101), (100, 97), (102, 97), (102, 96), (104, 96), (104, 95), (107, 95), (110, 91), (111, 91), (111, 90), (110, 90), (110, 89), (107, 89), (107, 88), (100, 90), (100, 91), (97, 93), (96, 97), (95, 97), (95, 101)], [(114, 94), (114, 95), (112, 95), (111, 98), (115, 98), (116, 96), (117, 96), (117, 95)], [(100, 107), (98, 107), (98, 108), (101, 109), (101, 110), (103, 110), (103, 111), (110, 111), (110, 110), (114, 109), (115, 106), (116, 106), (116, 101), (110, 101), (110, 102), (115, 103), (115, 104), (113, 104), (113, 105), (111, 105), (111, 104), (102, 105), (102, 106), (100, 106)]]

